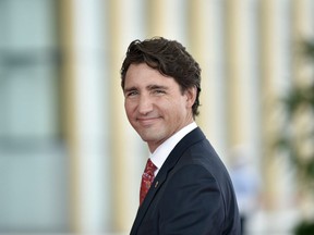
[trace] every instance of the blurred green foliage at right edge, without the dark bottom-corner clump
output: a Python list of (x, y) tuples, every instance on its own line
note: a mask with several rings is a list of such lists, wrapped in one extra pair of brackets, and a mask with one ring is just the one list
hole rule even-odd
[[(300, 45), (300, 52), (302, 59), (313, 63), (314, 66), (314, 40), (313, 41), (303, 41)], [(299, 176), (302, 177), (310, 185), (314, 185), (314, 152), (312, 156), (302, 156), (300, 148), (304, 141), (311, 141), (314, 146), (314, 129), (309, 126), (309, 128), (303, 129), (303, 136), (300, 140), (300, 136), (297, 136), (293, 132), (293, 119), (300, 113), (302, 115), (310, 116), (314, 122), (314, 77), (309, 77), (310, 83), (306, 83), (306, 86), (294, 85), (288, 96), (283, 98), (283, 104), (286, 107), (286, 112), (288, 115), (288, 129), (280, 134), (280, 137), (277, 139), (276, 147), (285, 149), (289, 152), (291, 162), (297, 166)], [(301, 111), (301, 112), (300, 112)], [(294, 129), (295, 131), (295, 129)], [(314, 234), (314, 233), (313, 233)]]

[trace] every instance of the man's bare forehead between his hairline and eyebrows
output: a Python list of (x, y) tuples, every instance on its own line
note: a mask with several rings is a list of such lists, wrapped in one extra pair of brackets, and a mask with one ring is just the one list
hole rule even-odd
[(124, 88), (147, 87), (152, 85), (179, 86), (173, 77), (165, 76), (146, 63), (131, 64), (126, 74)]

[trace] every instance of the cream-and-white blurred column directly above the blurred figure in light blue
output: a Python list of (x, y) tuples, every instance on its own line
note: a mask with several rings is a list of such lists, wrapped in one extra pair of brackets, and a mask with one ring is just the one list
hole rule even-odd
[(259, 92), (256, 0), (226, 2), (228, 150), (241, 147), (258, 165)]

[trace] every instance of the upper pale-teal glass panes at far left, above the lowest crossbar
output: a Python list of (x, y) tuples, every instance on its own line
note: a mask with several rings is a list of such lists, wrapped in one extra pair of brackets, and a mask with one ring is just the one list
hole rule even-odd
[(59, 135), (58, 40), (53, 0), (0, 1), (0, 139)]

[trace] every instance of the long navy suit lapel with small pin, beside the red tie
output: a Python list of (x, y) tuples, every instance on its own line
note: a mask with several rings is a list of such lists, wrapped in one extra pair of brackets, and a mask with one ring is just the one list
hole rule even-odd
[(193, 129), (191, 133), (185, 135), (173, 148), (173, 150), (168, 156), (167, 160), (162, 164), (161, 169), (159, 170), (158, 174), (156, 175), (142, 206), (138, 208), (135, 221), (133, 223), (131, 235), (137, 233), (137, 228), (142, 223), (143, 218), (145, 217), (152, 200), (154, 199), (155, 195), (158, 193), (158, 189), (167, 180), (169, 172), (174, 168), (183, 152), (195, 143), (204, 139), (205, 136), (203, 132), (197, 127)]

